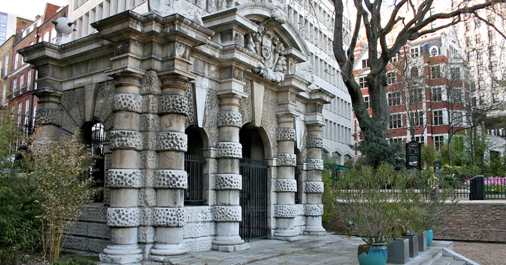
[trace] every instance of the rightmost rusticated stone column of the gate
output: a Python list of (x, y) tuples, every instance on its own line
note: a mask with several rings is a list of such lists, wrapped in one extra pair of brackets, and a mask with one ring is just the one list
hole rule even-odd
[(323, 204), (321, 204), (321, 194), (323, 193), (323, 182), (321, 181), (321, 171), (323, 170), (321, 126), (323, 123), (308, 121), (306, 125), (308, 158), (306, 167), (307, 181), (304, 185), (307, 198), (304, 205), (304, 214), (306, 215), (304, 234), (318, 236), (325, 233), (325, 229), (321, 226), (321, 216), (323, 215)]

